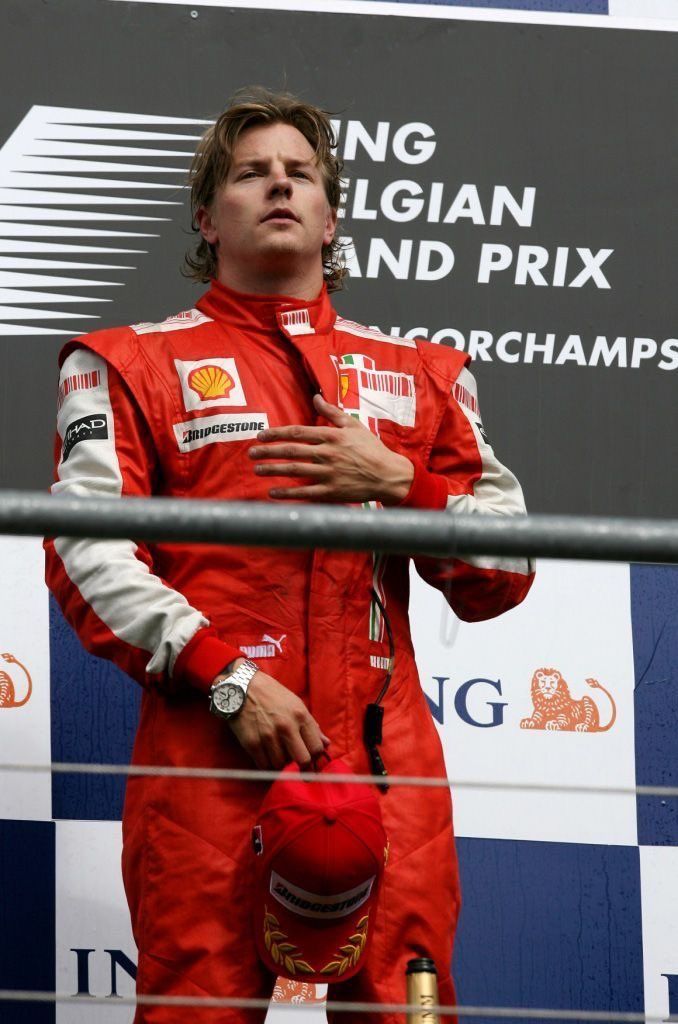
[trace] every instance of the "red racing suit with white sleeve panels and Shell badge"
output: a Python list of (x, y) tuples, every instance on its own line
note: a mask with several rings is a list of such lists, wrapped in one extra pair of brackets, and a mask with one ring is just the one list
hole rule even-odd
[[(325, 289), (303, 302), (213, 283), (197, 308), (162, 324), (66, 346), (52, 489), (266, 501), (271, 482), (255, 475), (248, 449), (264, 427), (317, 422), (311, 399), (322, 390), (413, 461), (405, 506), (522, 513), (519, 484), (482, 433), (468, 361), (455, 349), (337, 316)], [(67, 538), (46, 547), (49, 587), (85, 646), (143, 687), (135, 763), (252, 768), (207, 697), (214, 677), (246, 653), (304, 700), (331, 737), (332, 756), (369, 772), (363, 719), (389, 656), (374, 587), (395, 643), (384, 763), (391, 774), (444, 775), (410, 637), (408, 558)], [(533, 580), (526, 559), (415, 562), (467, 621), (511, 608)], [(139, 992), (270, 994), (274, 979), (257, 958), (250, 906), (250, 830), (264, 792), (259, 782), (129, 780), (123, 874)], [(330, 995), (404, 1002), (407, 961), (430, 955), (441, 1000), (451, 1002), (459, 887), (449, 792), (392, 787), (380, 799), (390, 855), (373, 946), (363, 970), (332, 984)], [(139, 1008), (135, 1022), (265, 1016), (181, 1013)]]

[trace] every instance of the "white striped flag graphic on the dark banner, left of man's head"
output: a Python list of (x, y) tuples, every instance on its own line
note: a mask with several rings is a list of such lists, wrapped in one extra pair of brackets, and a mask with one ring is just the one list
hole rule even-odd
[[(0, 150), (0, 253), (5, 254), (0, 255), (0, 336), (71, 335), (81, 330), (77, 322), (98, 319), (90, 309), (73, 312), (59, 307), (61, 303), (111, 302), (105, 295), (96, 294), (98, 290), (122, 287), (138, 264), (137, 258), (129, 257), (147, 253), (145, 248), (129, 249), (126, 244), (118, 248), (114, 243), (157, 238), (158, 231), (91, 230), (45, 222), (116, 221), (120, 226), (142, 223), (145, 228), (149, 222), (171, 219), (169, 212), (180, 206), (177, 193), (184, 187), (196, 141), (208, 123), (112, 111), (31, 108)], [(118, 144), (111, 145), (113, 141)], [(166, 146), (139, 144), (144, 141), (164, 141)], [(184, 147), (178, 148), (177, 142)], [(118, 163), (120, 157), (126, 162)], [(132, 199), (127, 195), (129, 189), (150, 195)], [(85, 209), (72, 209), (81, 206)], [(34, 223), (28, 225), (28, 221)], [(52, 241), (10, 241), (20, 236), (49, 237)], [(105, 244), (77, 245), (75, 240), (81, 238), (98, 238)], [(60, 243), (59, 239), (68, 241)], [(92, 262), (96, 253), (105, 254), (110, 261)], [(80, 270), (82, 276), (57, 272), (67, 269)], [(92, 271), (94, 276), (90, 276)], [(54, 289), (68, 291), (59, 294)], [(91, 289), (96, 291), (90, 294)], [(34, 304), (43, 308), (33, 309)], [(53, 319), (65, 323), (59, 328), (20, 323)]]

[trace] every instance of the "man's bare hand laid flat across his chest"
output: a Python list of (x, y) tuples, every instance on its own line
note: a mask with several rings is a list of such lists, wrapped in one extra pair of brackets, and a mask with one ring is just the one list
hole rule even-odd
[(317, 502), (379, 501), (383, 505), (404, 501), (414, 477), (412, 462), (320, 394), (314, 395), (313, 407), (331, 426), (272, 427), (258, 434), (250, 449), (258, 476), (308, 480), (296, 486), (273, 486), (269, 496)]

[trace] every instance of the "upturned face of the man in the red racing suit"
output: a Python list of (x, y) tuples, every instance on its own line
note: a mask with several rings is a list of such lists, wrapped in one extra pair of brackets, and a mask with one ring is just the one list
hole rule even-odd
[(322, 280), (322, 249), (334, 237), (337, 215), (312, 146), (292, 125), (277, 123), (243, 132), (226, 180), (211, 209), (201, 207), (198, 221), (216, 247), (218, 276), (225, 283), (242, 271), (267, 276), (320, 270)]

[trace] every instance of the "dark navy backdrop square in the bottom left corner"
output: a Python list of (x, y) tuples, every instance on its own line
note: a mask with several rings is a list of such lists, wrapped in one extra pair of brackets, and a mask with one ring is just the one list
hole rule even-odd
[[(53, 992), (54, 822), (0, 821), (0, 988)], [(53, 1024), (53, 1004), (0, 1002), (2, 1024)]]

